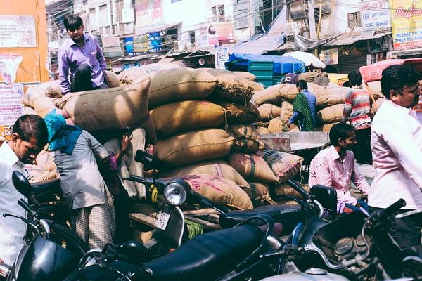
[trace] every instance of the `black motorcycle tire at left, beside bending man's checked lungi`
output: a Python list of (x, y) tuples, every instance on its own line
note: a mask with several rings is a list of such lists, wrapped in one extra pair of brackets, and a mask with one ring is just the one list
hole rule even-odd
[(62, 226), (55, 221), (46, 221), (49, 223), (50, 236), (49, 240), (60, 244), (63, 248), (72, 251), (75, 256), (82, 258), (84, 254), (89, 251), (88, 244), (84, 242), (77, 234), (68, 228)]

